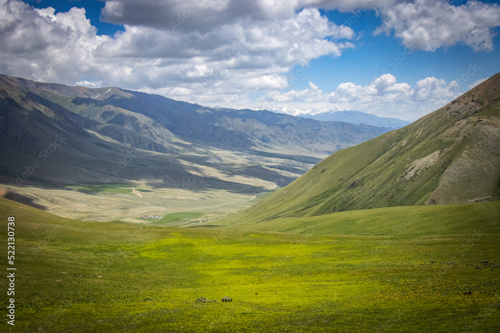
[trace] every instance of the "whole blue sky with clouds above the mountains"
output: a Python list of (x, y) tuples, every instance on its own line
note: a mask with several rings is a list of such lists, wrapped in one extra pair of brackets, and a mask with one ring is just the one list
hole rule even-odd
[(476, 0), (0, 0), (0, 73), (416, 120), (500, 71)]

